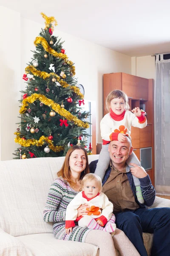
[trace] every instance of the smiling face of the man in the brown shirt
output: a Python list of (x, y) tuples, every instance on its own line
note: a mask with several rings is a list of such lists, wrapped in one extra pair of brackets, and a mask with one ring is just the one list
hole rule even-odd
[(125, 164), (129, 155), (132, 154), (133, 147), (128, 140), (123, 143), (113, 140), (109, 144), (108, 151), (113, 164)]

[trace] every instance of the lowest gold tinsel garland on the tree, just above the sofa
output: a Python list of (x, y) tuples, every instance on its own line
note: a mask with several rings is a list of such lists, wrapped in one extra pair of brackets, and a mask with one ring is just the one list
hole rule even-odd
[(64, 150), (63, 146), (54, 146), (52, 141), (45, 136), (41, 136), (39, 140), (35, 140), (35, 139), (23, 140), (22, 138), (20, 138), (20, 132), (14, 132), (14, 134), (17, 135), (17, 137), (14, 139), (15, 143), (18, 143), (23, 147), (30, 147), (31, 145), (40, 147), (46, 142), (48, 143), (48, 147), (54, 152), (59, 152)]

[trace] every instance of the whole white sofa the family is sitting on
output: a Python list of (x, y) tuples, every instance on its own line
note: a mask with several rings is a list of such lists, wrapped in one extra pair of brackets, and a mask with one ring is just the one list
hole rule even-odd
[[(98, 155), (90, 155), (89, 162)], [(99, 256), (98, 247), (54, 238), (53, 224), (43, 221), (48, 189), (64, 157), (0, 162), (0, 256)], [(156, 198), (153, 207), (170, 207)], [(144, 234), (148, 254), (152, 235)], [(117, 251), (117, 256), (119, 256)]]

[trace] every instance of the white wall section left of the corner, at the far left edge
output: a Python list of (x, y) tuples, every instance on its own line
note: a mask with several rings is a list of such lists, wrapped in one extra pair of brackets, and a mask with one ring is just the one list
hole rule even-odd
[(20, 122), (20, 14), (0, 6), (0, 160), (12, 159)]

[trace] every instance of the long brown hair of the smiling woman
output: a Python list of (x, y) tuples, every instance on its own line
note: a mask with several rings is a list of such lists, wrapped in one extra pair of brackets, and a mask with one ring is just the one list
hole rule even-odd
[(86, 158), (86, 167), (85, 167), (85, 170), (84, 172), (81, 173), (80, 175), (80, 179), (82, 180), (82, 178), (90, 173), (89, 171), (89, 166), (88, 166), (88, 154), (87, 154), (87, 151), (85, 150), (85, 148), (83, 148), (82, 146), (79, 146), (79, 145), (75, 145), (73, 147), (71, 147), (66, 156), (65, 156), (65, 160), (64, 160), (64, 163), (62, 165), (62, 168), (60, 169), (59, 172), (57, 172), (57, 175), (58, 177), (61, 176), (63, 179), (67, 180), (70, 185), (74, 184), (73, 181), (71, 180), (71, 171), (70, 171), (70, 168), (69, 168), (69, 160), (70, 160), (70, 156), (71, 154), (74, 152), (74, 150), (76, 149), (82, 149), (85, 153), (85, 158)]

